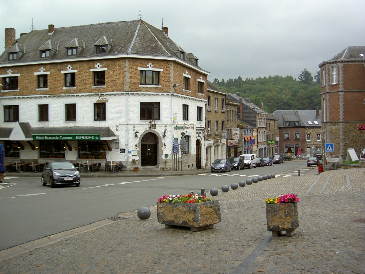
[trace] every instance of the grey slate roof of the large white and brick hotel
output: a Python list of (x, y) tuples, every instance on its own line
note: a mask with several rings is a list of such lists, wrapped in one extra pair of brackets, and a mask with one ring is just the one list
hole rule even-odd
[[(76, 40), (75, 40), (76, 39)], [(112, 45), (107, 54), (95, 54), (95, 46), (103, 41)], [(24, 34), (16, 43), (25, 47), (25, 53), (16, 62), (7, 61), (7, 53), (9, 48), (0, 56), (0, 64), (14, 65), (23, 62), (35, 62), (45, 60), (70, 60), (72, 58), (87, 58), (98, 56), (120, 56), (120, 55), (147, 55), (160, 57), (174, 57), (180, 59), (180, 51), (184, 52), (180, 46), (167, 37), (162, 31), (143, 20), (110, 22), (100, 24), (90, 24), (84, 26), (60, 27), (54, 28), (52, 34), (48, 34), (48, 29), (34, 30)], [(78, 56), (66, 56), (66, 47), (75, 44), (82, 49)], [(81, 44), (81, 45), (80, 45)], [(40, 59), (39, 49), (43, 48), (57, 49), (51, 58)], [(14, 50), (14, 49), (13, 49)], [(189, 54), (185, 57), (185, 62), (189, 65), (196, 66), (196, 63), (189, 59), (196, 57), (194, 54)], [(180, 59), (181, 60), (181, 59)]]

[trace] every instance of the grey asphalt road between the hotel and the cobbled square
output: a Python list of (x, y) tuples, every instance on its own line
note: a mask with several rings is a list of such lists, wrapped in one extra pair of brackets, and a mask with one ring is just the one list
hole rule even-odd
[(163, 195), (209, 191), (253, 176), (297, 176), (306, 161), (285, 161), (270, 167), (227, 173), (136, 178), (82, 178), (80, 187), (51, 189), (39, 177), (8, 177), (0, 189), (0, 250), (82, 225), (152, 206)]

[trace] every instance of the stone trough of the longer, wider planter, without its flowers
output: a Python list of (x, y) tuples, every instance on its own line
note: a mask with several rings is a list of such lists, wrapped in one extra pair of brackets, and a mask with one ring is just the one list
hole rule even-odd
[(203, 203), (157, 202), (157, 221), (165, 228), (190, 227), (191, 231), (213, 228), (220, 222), (219, 201)]

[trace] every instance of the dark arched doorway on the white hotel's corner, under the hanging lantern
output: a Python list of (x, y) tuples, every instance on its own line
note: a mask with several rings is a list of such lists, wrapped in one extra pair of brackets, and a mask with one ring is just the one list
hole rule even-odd
[(157, 144), (156, 134), (148, 132), (141, 139), (141, 166), (147, 167), (157, 165)]

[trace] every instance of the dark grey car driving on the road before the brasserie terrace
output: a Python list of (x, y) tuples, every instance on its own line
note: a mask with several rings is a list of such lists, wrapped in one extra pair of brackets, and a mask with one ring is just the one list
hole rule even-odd
[(68, 161), (51, 161), (45, 163), (42, 171), (42, 186), (50, 187), (64, 184), (80, 186), (80, 174), (77, 168)]

